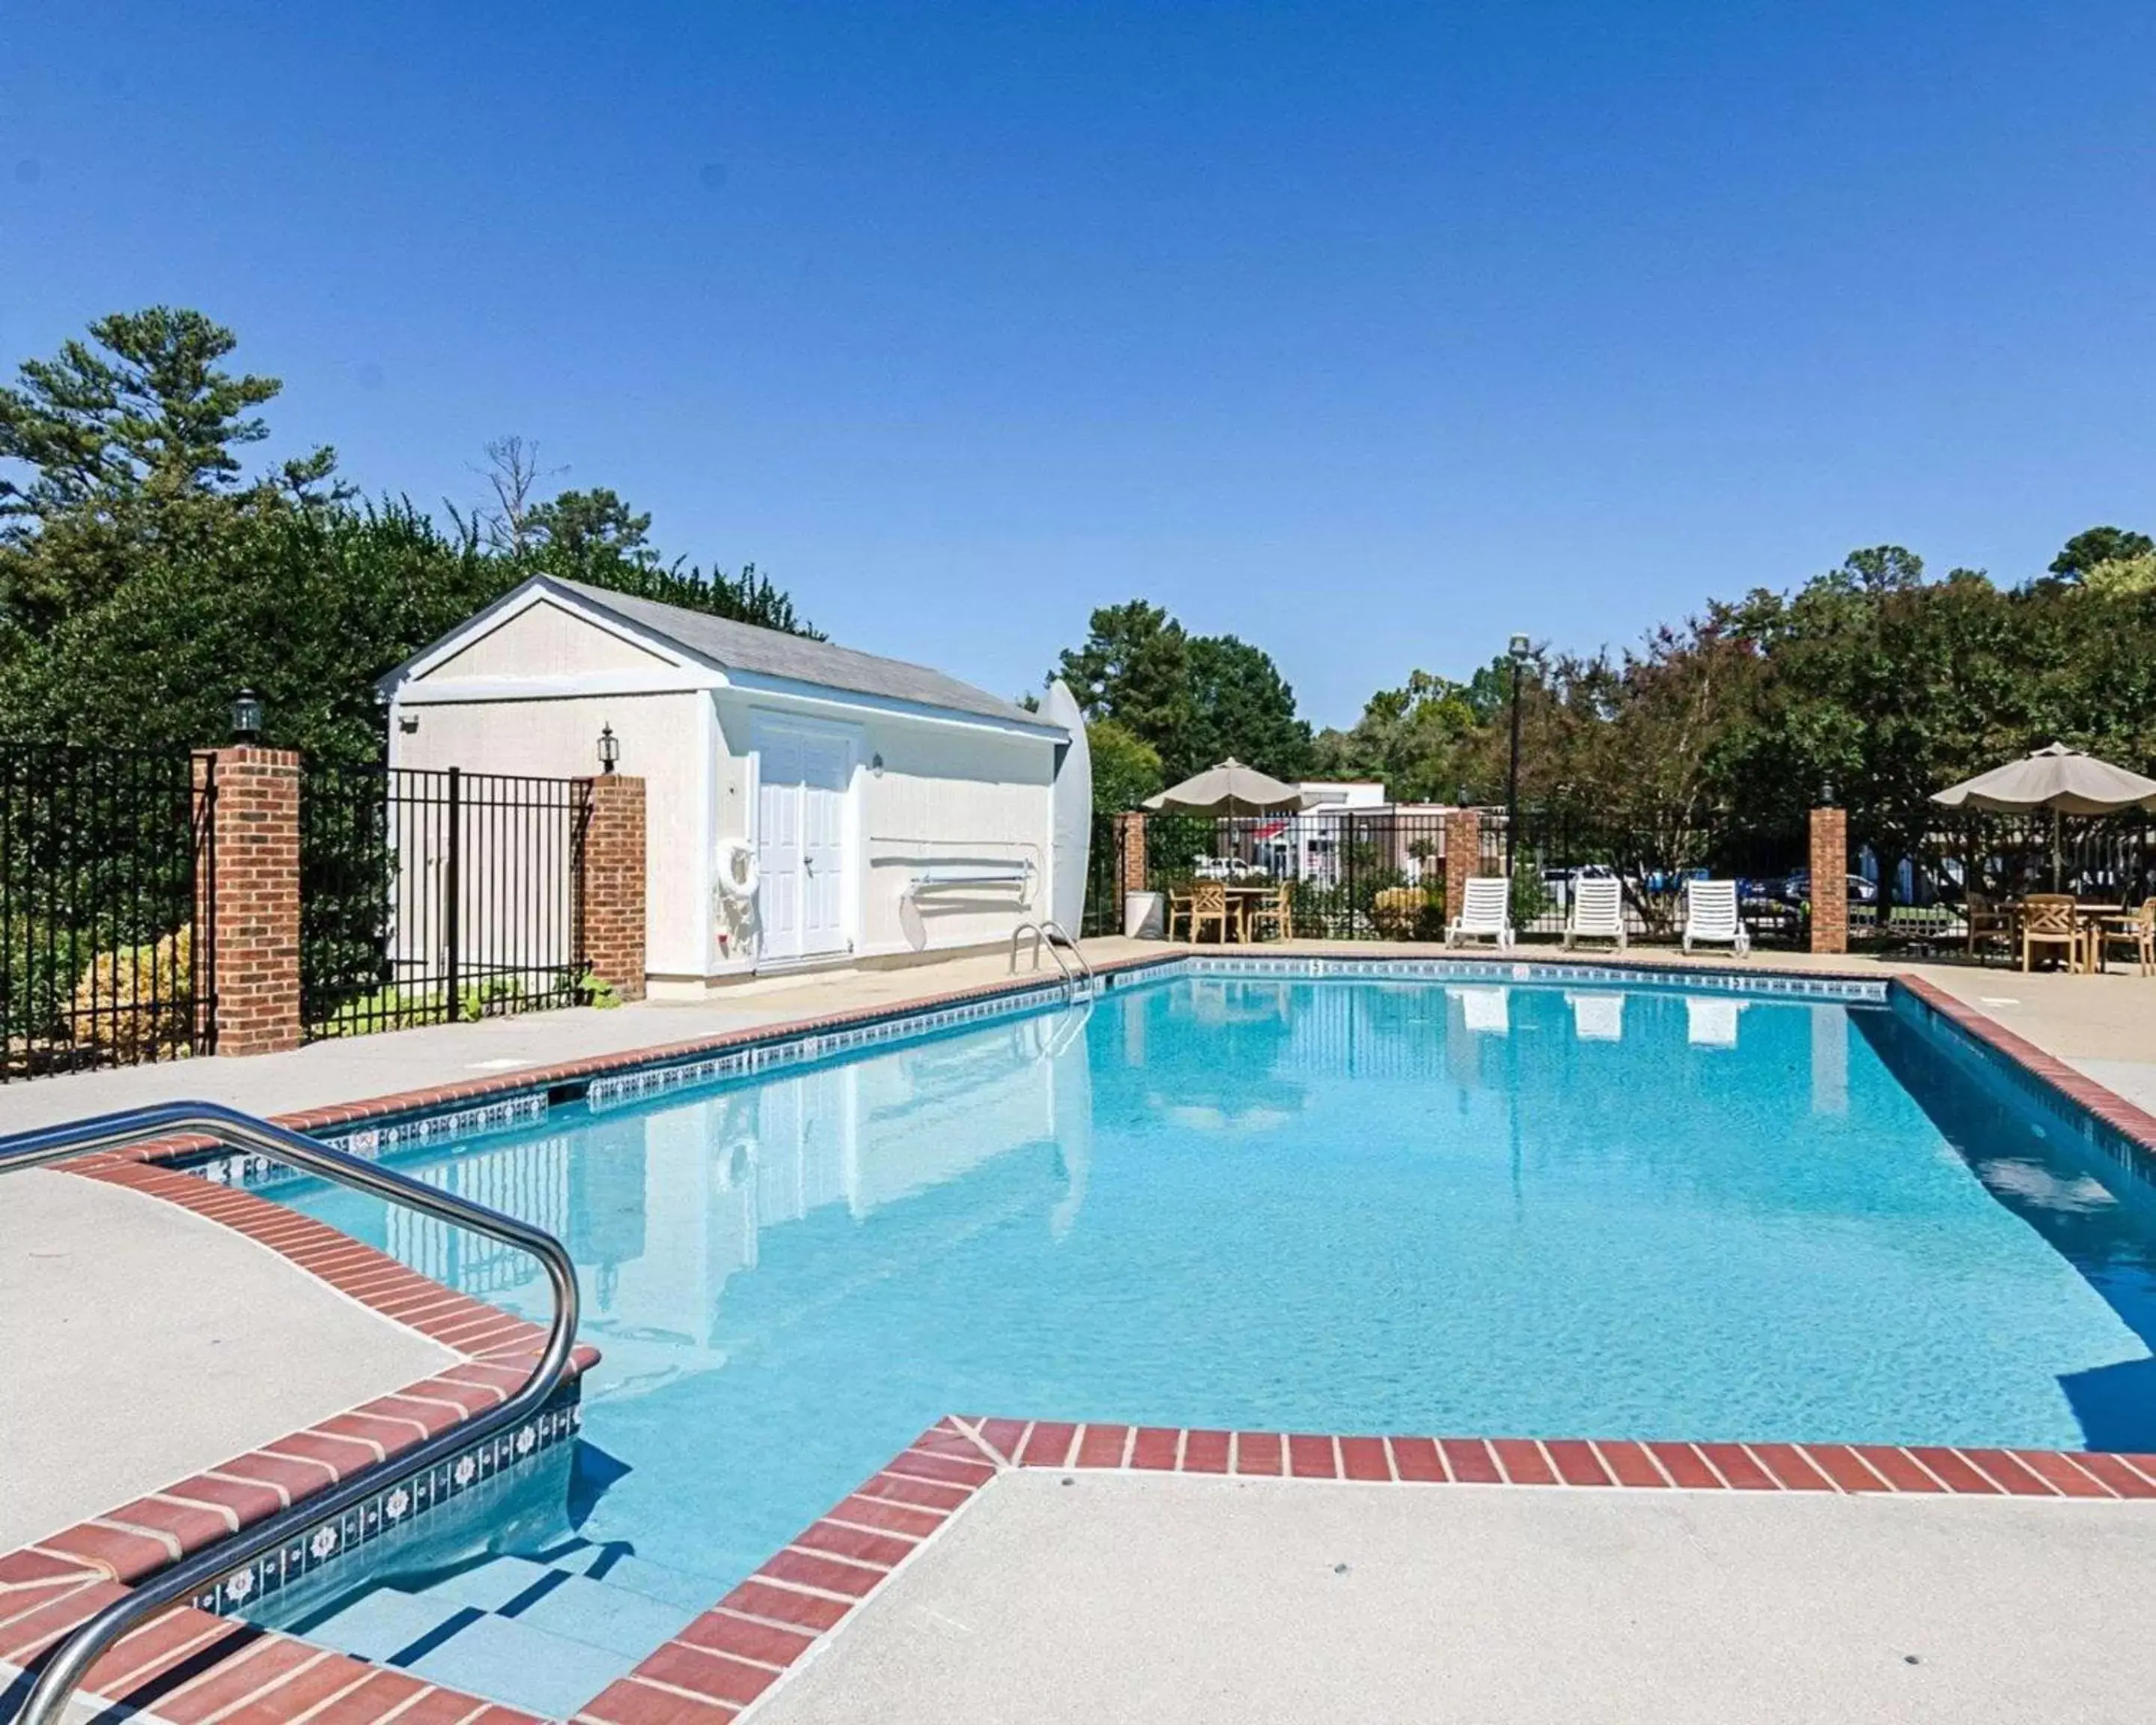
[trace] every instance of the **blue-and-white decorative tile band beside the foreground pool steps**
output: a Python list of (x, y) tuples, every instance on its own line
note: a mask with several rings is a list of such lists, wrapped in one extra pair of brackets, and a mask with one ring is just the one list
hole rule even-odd
[(550, 1451), (569, 1443), (584, 1425), (582, 1380), (571, 1378), (537, 1414), (513, 1432), (496, 1432), (410, 1479), (386, 1484), (334, 1520), (321, 1520), (287, 1540), (278, 1550), (233, 1570), (192, 1604), (213, 1617), (259, 1611), (276, 1593), (300, 1581), (345, 1568), (369, 1555), (384, 1533), (403, 1533), (446, 1509), (468, 1492), (537, 1468)]

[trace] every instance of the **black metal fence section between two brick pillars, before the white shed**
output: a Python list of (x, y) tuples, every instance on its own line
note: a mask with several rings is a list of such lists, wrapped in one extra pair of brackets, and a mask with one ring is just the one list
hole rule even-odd
[(586, 998), (589, 787), (459, 768), (310, 768), (300, 798), (308, 1039)]

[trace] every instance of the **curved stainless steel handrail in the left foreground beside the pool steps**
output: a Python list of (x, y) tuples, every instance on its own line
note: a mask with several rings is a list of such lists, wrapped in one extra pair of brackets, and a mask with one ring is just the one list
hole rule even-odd
[(267, 1520), (244, 1527), (237, 1533), (229, 1533), (213, 1546), (203, 1546), (192, 1557), (179, 1559), (172, 1568), (157, 1570), (134, 1583), (123, 1598), (82, 1624), (60, 1645), (30, 1690), (30, 1699), (24, 1703), (15, 1725), (60, 1725), (69, 1699), (99, 1654), (144, 1617), (155, 1615), (175, 1600), (185, 1600), (229, 1570), (237, 1570), (241, 1563), (280, 1546), (293, 1533), (341, 1516), (390, 1481), (425, 1473), (466, 1445), (479, 1443), (539, 1412), (561, 1384), (569, 1367), (569, 1352), (576, 1348), (576, 1264), (552, 1233), (530, 1223), (520, 1223), (515, 1216), (502, 1216), (483, 1203), (472, 1203), (453, 1192), (438, 1192), (433, 1186), (390, 1173), (377, 1162), (330, 1149), (326, 1143), (218, 1102), (164, 1102), (153, 1108), (129, 1108), (119, 1115), (99, 1115), (71, 1126), (0, 1138), (0, 1175), (15, 1169), (34, 1169), (41, 1162), (60, 1162), (69, 1156), (91, 1156), (99, 1149), (121, 1149), (123, 1145), (168, 1138), (183, 1132), (198, 1132), (229, 1149), (246, 1149), (289, 1162), (323, 1179), (373, 1192), (390, 1203), (410, 1205), (438, 1220), (468, 1227), (472, 1233), (485, 1233), (492, 1240), (530, 1253), (545, 1268), (548, 1281), (554, 1285), (554, 1324), (548, 1330), (545, 1348), (539, 1352), (539, 1363), (522, 1389), (507, 1402), (498, 1402), (485, 1412), (436, 1432), (414, 1449), (392, 1455), (386, 1462), (375, 1462), (371, 1468), (362, 1468), (330, 1486), (330, 1490), (302, 1499), (289, 1509), (280, 1509)]

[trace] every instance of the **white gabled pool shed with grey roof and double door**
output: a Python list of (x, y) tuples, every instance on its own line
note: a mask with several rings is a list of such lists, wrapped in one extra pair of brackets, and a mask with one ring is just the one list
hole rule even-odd
[(1052, 914), (1056, 800), (1087, 796), (1082, 733), (940, 671), (554, 576), (379, 692), (392, 768), (589, 776), (612, 733), (653, 994), (1009, 940)]

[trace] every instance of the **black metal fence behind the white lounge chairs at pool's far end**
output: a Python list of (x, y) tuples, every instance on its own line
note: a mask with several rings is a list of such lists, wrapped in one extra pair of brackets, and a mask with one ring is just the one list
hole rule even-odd
[[(1311, 811), (1298, 815), (1147, 815), (1145, 882), (1188, 891), (1197, 880), (1287, 884), (1304, 940), (1440, 940), (1445, 936), (1447, 815), (1438, 809)], [(1130, 828), (1102, 815), (1093, 834), (1087, 934), (1119, 934)], [(1570, 811), (1522, 811), (1516, 841), (1503, 811), (1481, 811), (1477, 873), (1511, 875), (1522, 936), (1565, 932), (1583, 878), (1623, 884), (1626, 916), (1643, 940), (1682, 929), (1688, 880), (1736, 878), (1755, 940), (1809, 938), (1807, 834), (1664, 824), (1628, 826)]]

